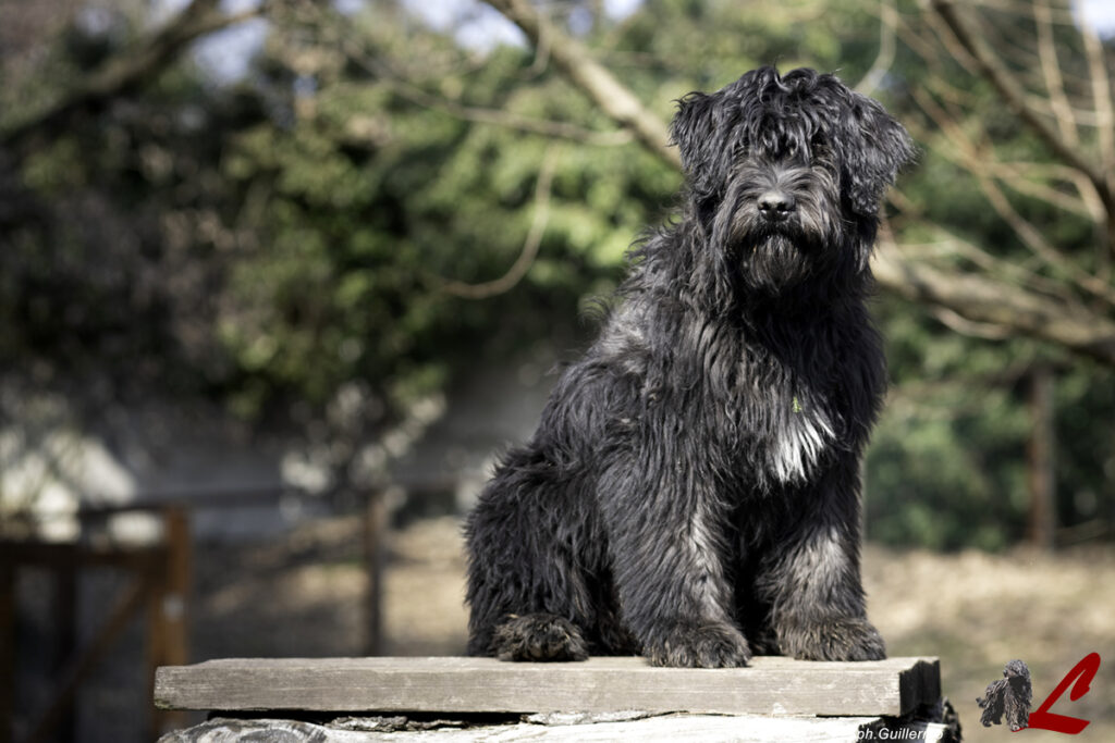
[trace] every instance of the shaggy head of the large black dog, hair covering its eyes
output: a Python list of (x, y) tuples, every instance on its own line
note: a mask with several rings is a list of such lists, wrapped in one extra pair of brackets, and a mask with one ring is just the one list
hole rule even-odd
[(876, 101), (804, 68), (689, 94), (670, 134), (712, 245), (773, 292), (826, 267), (865, 271), (880, 199), (914, 156)]

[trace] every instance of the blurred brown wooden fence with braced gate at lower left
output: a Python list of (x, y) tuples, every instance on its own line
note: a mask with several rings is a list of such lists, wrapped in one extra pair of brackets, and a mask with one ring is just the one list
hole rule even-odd
[[(140, 499), (120, 506), (88, 507), (78, 511), (83, 526), (96, 524), (125, 511), (155, 512), (162, 519), (162, 538), (152, 546), (95, 547), (76, 542), (0, 539), (0, 743), (12, 743), (16, 718), (16, 589), (21, 568), (40, 567), (52, 573), (55, 595), (51, 620), (51, 653), (60, 658), (54, 668), (56, 682), (46, 708), (32, 711), (30, 733), (19, 743), (41, 743), (55, 735), (76, 740), (75, 698), (81, 683), (112, 649), (128, 623), (145, 614), (145, 678), (147, 698), (154, 694), (155, 669), (190, 662), (190, 606), (193, 584), (191, 514), (198, 509), (227, 509), (275, 505), (287, 495), (304, 497), (290, 488), (209, 492), (174, 500)], [(382, 583), (384, 532), (388, 512), (379, 492), (362, 493), (365, 502), (362, 559), (368, 577), (363, 603), (367, 635), (365, 652), (382, 648), (380, 595)], [(100, 628), (86, 647), (77, 646), (80, 570), (115, 568), (129, 583), (109, 609)], [(182, 713), (152, 708), (144, 740), (181, 724)]]

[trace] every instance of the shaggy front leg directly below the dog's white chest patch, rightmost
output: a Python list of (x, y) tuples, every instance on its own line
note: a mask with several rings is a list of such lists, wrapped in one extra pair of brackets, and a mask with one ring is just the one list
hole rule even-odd
[(778, 649), (806, 661), (884, 658), (860, 577), (855, 462), (834, 467), (816, 488), (798, 493), (803, 516), (775, 545), (758, 579)]

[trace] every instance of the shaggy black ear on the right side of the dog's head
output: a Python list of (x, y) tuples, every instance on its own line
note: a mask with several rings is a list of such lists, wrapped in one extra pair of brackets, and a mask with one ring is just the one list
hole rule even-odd
[(833, 137), (852, 208), (874, 216), (886, 187), (917, 155), (906, 130), (876, 101), (852, 94), (840, 131)]

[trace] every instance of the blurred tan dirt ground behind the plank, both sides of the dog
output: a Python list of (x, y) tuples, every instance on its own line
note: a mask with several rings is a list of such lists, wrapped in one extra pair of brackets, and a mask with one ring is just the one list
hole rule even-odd
[[(361, 653), (365, 578), (355, 520), (308, 524), (284, 542), (237, 551), (224, 559), (198, 556), (211, 567), (200, 576), (197, 659)], [(458, 521), (429, 519), (395, 530), (387, 551), (385, 652), (462, 653), (467, 614)], [(235, 563), (243, 569), (229, 571)], [(1092, 721), (1077, 740), (1115, 740), (1115, 549), (937, 555), (869, 545), (864, 581), (870, 616), (890, 655), (941, 658), (944, 693), (967, 741), (1010, 734), (981, 727), (976, 705), (1007, 661), (1029, 665), (1036, 707), (1092, 652), (1103, 664), (1090, 692), (1078, 701), (1066, 693), (1053, 711)], [(1026, 739), (1064, 736), (1027, 731)]]

